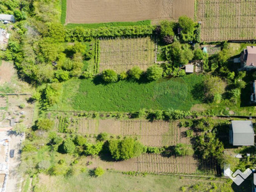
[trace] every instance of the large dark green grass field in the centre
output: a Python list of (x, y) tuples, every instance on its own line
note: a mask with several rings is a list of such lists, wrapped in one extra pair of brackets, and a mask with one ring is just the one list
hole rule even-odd
[[(138, 111), (146, 109), (189, 110), (198, 99), (203, 76), (188, 75), (150, 83), (119, 81), (101, 84), (97, 80), (71, 79), (63, 84), (63, 95), (56, 110)], [(199, 95), (203, 93), (199, 93)], [(197, 97), (195, 99), (195, 97)]]

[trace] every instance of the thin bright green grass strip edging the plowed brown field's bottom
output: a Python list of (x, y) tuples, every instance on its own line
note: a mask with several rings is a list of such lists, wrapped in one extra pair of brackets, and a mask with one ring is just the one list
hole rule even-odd
[[(67, 0), (63, 0), (67, 1)], [(121, 26), (149, 26), (151, 24), (151, 20), (140, 20), (137, 22), (103, 22), (103, 23), (92, 23), (92, 24), (67, 24), (66, 28), (74, 29), (77, 27), (86, 28), (86, 29), (94, 29), (94, 28), (102, 28), (102, 27), (121, 27)]]

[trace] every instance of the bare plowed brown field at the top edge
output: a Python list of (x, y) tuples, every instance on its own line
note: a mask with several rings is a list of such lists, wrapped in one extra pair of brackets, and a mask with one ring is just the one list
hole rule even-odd
[(193, 18), (194, 6), (194, 0), (67, 0), (66, 23)]

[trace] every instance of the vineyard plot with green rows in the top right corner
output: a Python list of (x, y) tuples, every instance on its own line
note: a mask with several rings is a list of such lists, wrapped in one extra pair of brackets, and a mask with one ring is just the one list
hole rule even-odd
[(198, 0), (196, 16), (202, 22), (201, 40), (255, 39), (255, 9), (254, 0)]

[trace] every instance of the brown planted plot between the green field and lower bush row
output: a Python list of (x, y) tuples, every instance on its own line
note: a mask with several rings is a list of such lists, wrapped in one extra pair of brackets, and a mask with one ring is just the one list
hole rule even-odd
[[(169, 146), (176, 145), (183, 141), (188, 143), (188, 138), (180, 134), (178, 122), (147, 120), (92, 120), (78, 118), (78, 132), (81, 134), (99, 134), (108, 132), (109, 134), (136, 137), (147, 146)], [(187, 141), (188, 140), (188, 141)]]

